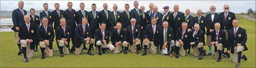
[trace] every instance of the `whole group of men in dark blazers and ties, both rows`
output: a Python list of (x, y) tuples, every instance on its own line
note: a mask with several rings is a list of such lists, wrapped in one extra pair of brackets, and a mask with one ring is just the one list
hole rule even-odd
[[(96, 50), (99, 50), (98, 55), (105, 54), (106, 49), (114, 54), (122, 51), (127, 54), (126, 50), (139, 54), (139, 50), (144, 49), (141, 54), (143, 56), (147, 55), (149, 48), (151, 54), (157, 54), (157, 51), (161, 50), (162, 55), (167, 54), (167, 49), (170, 57), (174, 51), (175, 58), (179, 58), (178, 54), (191, 54), (192, 47), (193, 55), (199, 56), (198, 59), (201, 60), (205, 55), (212, 55), (213, 45), (213, 56), (218, 58), (217, 62), (221, 61), (221, 56), (229, 58), (230, 53), (233, 62), (237, 63), (236, 67), (240, 67), (240, 59), (247, 60), (246, 55), (241, 56), (242, 51), (248, 50), (245, 44), (246, 30), (238, 26), (239, 21), (234, 13), (229, 12), (229, 5), (224, 5), (224, 12), (220, 14), (215, 13), (216, 7), (212, 5), (210, 14), (204, 17), (199, 9), (198, 16), (193, 17), (190, 15), (190, 9), (186, 9), (186, 15), (179, 12), (179, 5), (174, 5), (172, 13), (169, 12), (169, 6), (165, 6), (165, 13), (161, 14), (158, 7), (150, 3), (150, 10), (144, 12), (145, 6), (142, 5), (139, 9), (138, 1), (134, 2), (135, 8), (131, 11), (129, 4), (125, 4), (123, 12), (117, 11), (116, 4), (110, 12), (107, 3), (103, 4), (104, 9), (100, 12), (96, 11), (96, 4), (92, 4), (92, 11), (87, 12), (84, 10), (84, 3), (80, 3), (81, 10), (76, 12), (72, 9), (71, 2), (68, 2), (66, 10), (60, 10), (60, 5), (56, 3), (56, 10), (49, 12), (48, 4), (45, 3), (44, 11), (40, 12), (39, 17), (35, 15), (35, 9), (30, 9), (31, 15), (27, 15), (23, 4), (23, 1), (19, 1), (19, 8), (13, 10), (12, 19), (14, 40), (20, 49), (18, 55), (24, 54), (24, 62), (28, 62), (27, 57), (33, 57), (33, 51), (38, 52), (37, 45), (42, 52), (41, 59), (45, 59), (44, 55), (51, 57), (53, 51), (56, 51), (52, 47), (54, 37), (61, 57), (64, 57), (63, 53), (69, 54), (73, 51), (75, 55), (80, 55), (83, 49), (87, 49), (85, 44), (90, 44), (88, 55), (94, 55), (91, 50), (94, 50), (95, 45)], [(204, 45), (209, 46), (208, 54), (203, 50)], [(224, 52), (224, 48), (227, 48), (227, 52)]]

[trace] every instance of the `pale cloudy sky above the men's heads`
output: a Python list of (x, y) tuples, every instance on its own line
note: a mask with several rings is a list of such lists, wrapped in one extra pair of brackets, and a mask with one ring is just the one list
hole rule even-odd
[[(91, 4), (95, 3), (97, 11), (103, 10), (103, 4), (108, 4), (108, 10), (113, 11), (113, 4), (118, 5), (118, 10), (125, 10), (125, 4), (130, 5), (130, 9), (133, 9), (133, 3), (135, 0), (24, 0), (24, 8), (29, 11), (30, 8), (35, 10), (43, 10), (43, 4), (48, 3), (48, 9), (55, 10), (54, 4), (59, 3), (60, 9), (66, 10), (68, 8), (67, 3), (71, 1), (73, 3), (73, 9), (80, 10), (79, 4), (84, 3), (85, 8), (88, 12), (91, 11)], [(202, 12), (210, 11), (209, 8), (211, 5), (216, 6), (216, 12), (224, 12), (223, 6), (228, 4), (230, 6), (230, 12), (233, 13), (246, 13), (247, 9), (252, 8), (253, 11), (256, 10), (256, 1), (255, 0), (138, 0), (139, 7), (141, 5), (145, 6), (145, 11), (149, 10), (149, 4), (153, 3), (154, 6), (158, 6), (158, 11), (164, 11), (162, 9), (164, 6), (169, 6), (169, 10), (173, 10), (175, 4), (179, 5), (179, 11), (185, 12), (186, 9), (190, 9), (190, 12), (196, 13), (198, 9), (201, 9)], [(18, 8), (18, 0), (1, 0), (1, 11), (12, 11)]]

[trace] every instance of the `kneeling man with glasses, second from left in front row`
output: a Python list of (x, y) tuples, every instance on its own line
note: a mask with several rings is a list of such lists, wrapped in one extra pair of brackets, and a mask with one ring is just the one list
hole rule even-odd
[(41, 59), (45, 59), (44, 54), (48, 57), (53, 56), (52, 42), (55, 37), (53, 27), (48, 25), (48, 18), (42, 18), (43, 24), (37, 28), (37, 37), (39, 39), (39, 46), (42, 52)]

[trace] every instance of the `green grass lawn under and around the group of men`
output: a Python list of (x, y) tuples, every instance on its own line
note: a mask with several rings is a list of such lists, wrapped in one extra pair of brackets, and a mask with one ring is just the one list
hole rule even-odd
[[(248, 57), (247, 61), (241, 60), (241, 67), (255, 68), (255, 22), (248, 19), (240, 19), (239, 26), (247, 30), (248, 51), (244, 51)], [(41, 52), (34, 52), (34, 58), (29, 58), (29, 62), (23, 62), (23, 54), (17, 56), (18, 47), (14, 42), (14, 32), (1, 32), (1, 67), (235, 67), (236, 63), (232, 62), (232, 58), (223, 58), (221, 62), (216, 62), (213, 56), (203, 56), (202, 60), (194, 57), (192, 54), (186, 56), (175, 56), (170, 58), (169, 55), (161, 55), (160, 51), (156, 55), (150, 54), (141, 56), (144, 50), (139, 51), (140, 54), (113, 54), (107, 51), (106, 54), (97, 55), (98, 51), (93, 50), (94, 56), (87, 55), (87, 50), (84, 50), (81, 55), (70, 53), (64, 54), (64, 58), (60, 57), (59, 52), (53, 52), (53, 57), (41, 58)], [(206, 36), (205, 36), (206, 37)], [(206, 41), (206, 40), (205, 40)], [(86, 45), (89, 47), (88, 45)], [(53, 48), (57, 49), (56, 41), (53, 42)], [(204, 46), (208, 53), (208, 46)], [(191, 51), (193, 51), (191, 49)], [(226, 51), (226, 50), (225, 50)], [(212, 47), (214, 52), (214, 47)], [(174, 54), (175, 55), (175, 54)]]

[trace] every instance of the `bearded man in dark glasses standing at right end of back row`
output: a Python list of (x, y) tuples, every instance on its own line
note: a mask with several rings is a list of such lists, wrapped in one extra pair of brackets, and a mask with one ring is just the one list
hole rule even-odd
[[(235, 13), (232, 13), (232, 12), (229, 11), (229, 5), (227, 5), (227, 4), (224, 5), (223, 10), (224, 10), (224, 12), (220, 13), (220, 15), (221, 15), (221, 29), (226, 32), (226, 41), (227, 41), (228, 31), (233, 28), (232, 21), (234, 19), (236, 19), (236, 17), (235, 17)], [(226, 48), (226, 46), (224, 46), (224, 49), (222, 50), (222, 55), (221, 56), (224, 56), (225, 48)], [(224, 57), (229, 58), (230, 55), (227, 55), (227, 56), (224, 56)]]

